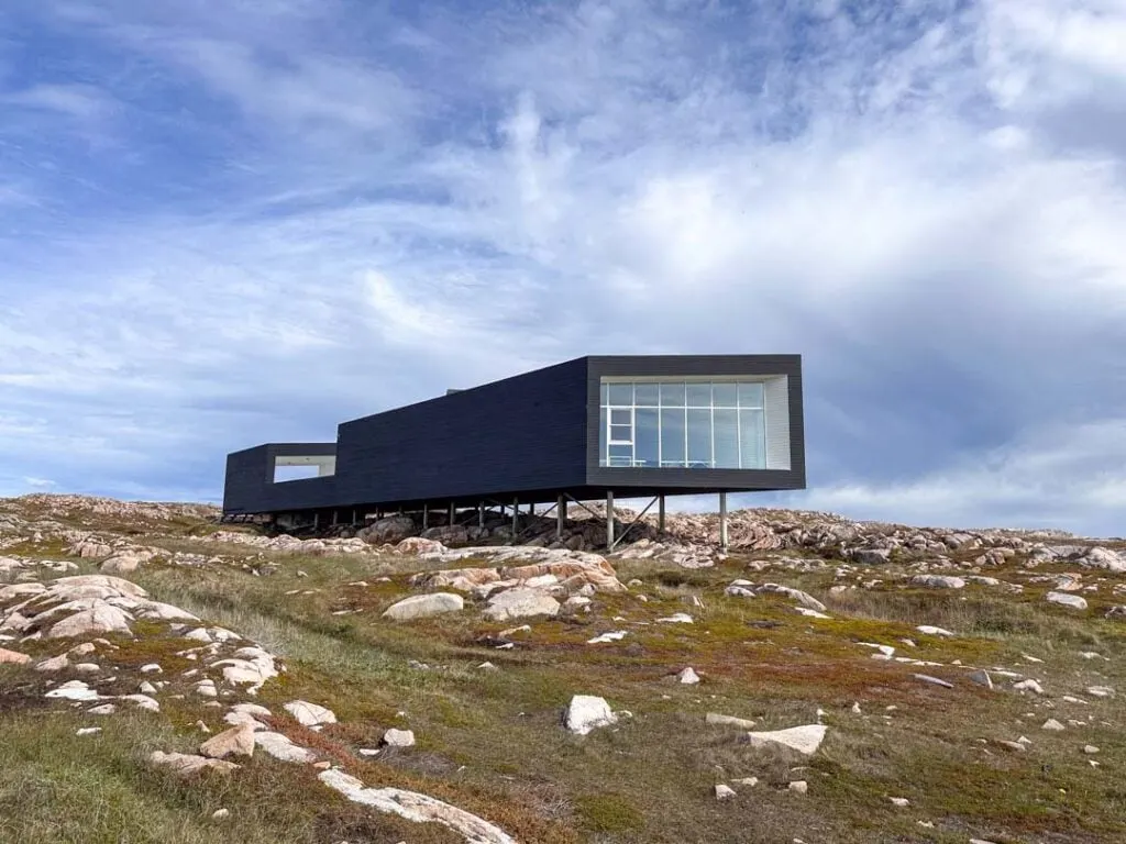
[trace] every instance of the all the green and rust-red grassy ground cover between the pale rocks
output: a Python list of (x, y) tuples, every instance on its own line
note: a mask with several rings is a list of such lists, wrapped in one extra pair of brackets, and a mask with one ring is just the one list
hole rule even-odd
[[(200, 530), (176, 526), (159, 542), (208, 556), (220, 548), (224, 556), (257, 554), (203, 542), (194, 538)], [(490, 647), (484, 637), (518, 622), (484, 622), (472, 601), (456, 616), (384, 621), (386, 607), (413, 593), (406, 578), (425, 567), (415, 558), (267, 554), (277, 566), (269, 575), (256, 576), (241, 562), (191, 569), (158, 563), (134, 580), (158, 600), (278, 654), (287, 671), (259, 694), (275, 713), (300, 698), (340, 718), (315, 734), (277, 717), (276, 726), (295, 740), (370, 785), (449, 800), (521, 842), (1126, 839), (1120, 701), (1062, 699), (1094, 684), (1126, 692), (1126, 626), (1098, 611), (1109, 585), (1089, 598), (1097, 609), (1075, 616), (1045, 604), (1047, 586), (1030, 580), (1052, 567), (1027, 572), (1018, 559), (984, 574), (1024, 584), (1019, 594), (913, 589), (899, 577), (902, 563), (864, 573), (884, 580), (875, 589), (831, 592), (852, 582), (835, 576), (835, 563), (801, 573), (747, 568), (766, 558), (736, 555), (699, 571), (623, 562), (620, 580), (637, 577), (640, 587), (596, 595), (589, 614), (529, 620), (531, 631), (515, 635), (511, 650)], [(780, 596), (729, 598), (723, 587), (735, 577), (803, 589), (828, 605), (831, 619), (799, 616)], [(357, 581), (367, 585), (349, 585)], [(341, 611), (348, 614), (333, 614)], [(658, 621), (673, 612), (695, 622)], [(958, 636), (922, 635), (915, 628), (924, 623)], [(628, 631), (620, 641), (587, 644), (618, 629)], [(942, 665), (874, 659), (861, 643)], [(188, 665), (172, 656), (181, 640), (119, 644), (114, 662), (123, 671), (154, 661), (170, 676)], [(59, 647), (26, 649), (53, 655)], [(1109, 662), (1084, 659), (1080, 650)], [(484, 661), (498, 670), (479, 668)], [(986, 691), (966, 682), (956, 663), (1036, 676), (1049, 698)], [(688, 665), (700, 685), (672, 680)], [(920, 671), (957, 685), (920, 683), (912, 677)], [(106, 731), (91, 742), (73, 736), (84, 724), (80, 716), (44, 706), (43, 682), (27, 670), (0, 672), (0, 841), (452, 839), (337, 800), (312, 782), (312, 772), (268, 758), (232, 778), (170, 779), (144, 762), (148, 753), (189, 749), (199, 739), (191, 725), (202, 718), (217, 726), (221, 710), (162, 699), (160, 716), (105, 719)], [(560, 717), (577, 693), (605, 697), (632, 717), (571, 736)], [(716, 711), (753, 719), (757, 728), (783, 728), (813, 722), (819, 709), (830, 730), (811, 758), (756, 748), (739, 729), (705, 725), (705, 715)], [(1048, 717), (1083, 724), (1048, 733), (1040, 729)], [(356, 751), (377, 746), (387, 727), (413, 729), (418, 746), (360, 761)], [(1025, 753), (998, 744), (1020, 736), (1031, 739)], [(1100, 747), (1098, 769), (1082, 753), (1087, 743)], [(735, 782), (748, 776), (759, 784)], [(808, 782), (807, 794), (787, 790), (798, 779)], [(716, 802), (721, 782), (739, 792), (733, 800)], [(894, 807), (891, 797), (908, 798), (910, 808)], [(70, 820), (65, 801), (90, 821)], [(27, 811), (15, 811), (24, 803)], [(222, 827), (211, 820), (220, 806), (232, 814)]]

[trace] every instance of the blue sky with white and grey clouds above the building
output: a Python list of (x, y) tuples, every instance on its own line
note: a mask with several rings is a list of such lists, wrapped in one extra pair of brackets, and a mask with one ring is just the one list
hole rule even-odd
[(1126, 535), (1124, 45), (1126, 0), (6, 0), (0, 494), (801, 353), (808, 488), (735, 505)]

